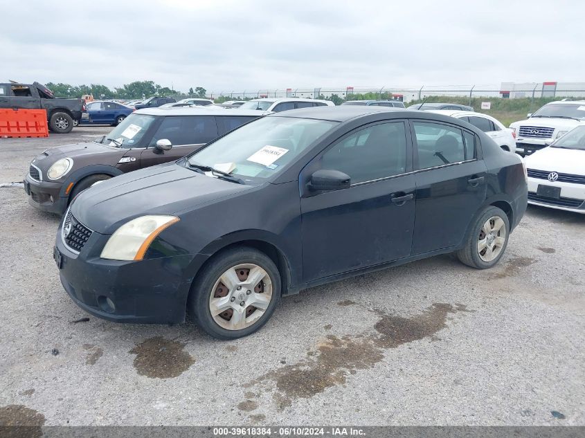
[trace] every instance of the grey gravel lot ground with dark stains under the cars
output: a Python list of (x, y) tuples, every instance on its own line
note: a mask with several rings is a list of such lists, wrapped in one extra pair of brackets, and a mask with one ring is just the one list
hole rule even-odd
[[(110, 129), (0, 138), (0, 183)], [(0, 211), (0, 423), (585, 424), (585, 216), (529, 208), (492, 270), (447, 255), (309, 289), (222, 342), (87, 315), (53, 262), (59, 218), (17, 187)]]

